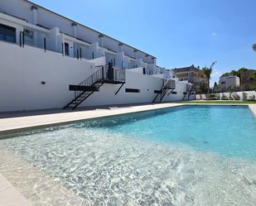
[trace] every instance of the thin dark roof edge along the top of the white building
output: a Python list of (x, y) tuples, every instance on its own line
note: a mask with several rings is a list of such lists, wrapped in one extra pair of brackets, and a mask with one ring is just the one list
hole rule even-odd
[[(24, 1), (24, 2), (29, 2), (29, 3), (31, 3), (32, 5), (36, 6), (36, 7), (41, 7), (42, 9), (45, 9), (45, 10), (48, 11), (48, 12), (54, 13), (54, 14), (56, 14), (56, 15), (59, 16), (59, 17), (65, 18), (66, 20), (69, 20), (70, 22), (74, 22), (74, 23), (76, 23), (76, 24), (78, 24), (78, 25), (80, 25), (80, 26), (84, 26), (85, 28), (88, 28), (88, 29), (91, 30), (91, 31), (95, 31), (95, 32), (99, 33), (99, 35), (104, 35), (104, 36), (106, 36), (106, 37), (108, 37), (108, 38), (110, 38), (110, 39), (112, 39), (112, 40), (114, 40), (114, 41), (118, 41), (117, 39), (114, 39), (114, 38), (111, 37), (111, 36), (105, 35), (104, 33), (99, 32), (99, 31), (96, 31), (96, 30), (90, 28), (89, 26), (85, 26), (85, 25), (83, 25), (83, 24), (81, 24), (81, 23), (79, 23), (79, 22), (75, 22), (74, 20), (72, 20), (72, 19), (70, 19), (70, 18), (68, 18), (68, 17), (64, 17), (64, 16), (60, 15), (59, 13), (53, 12), (53, 11), (51, 11), (50, 9), (46, 8), (46, 7), (42, 7), (42, 6), (38, 5), (38, 4), (36, 4), (35, 2), (31, 2), (31, 1), (29, 1), (29, 0), (23, 0), (23, 1)], [(121, 43), (121, 44), (123, 44), (123, 45), (125, 45), (125, 46), (128, 46), (128, 47), (132, 48), (133, 50), (138, 50), (137, 48), (135, 48), (135, 47), (133, 47), (133, 46), (129, 46), (128, 44), (125, 44), (125, 43), (123, 43), (122, 41), (118, 41), (118, 42)], [(93, 43), (93, 42), (92, 42), (92, 43)], [(149, 55), (149, 54), (147, 54), (146, 52), (144, 52), (144, 51), (142, 51), (142, 50), (138, 50), (138, 51), (144, 53), (145, 55)], [(157, 58), (157, 57), (155, 57), (155, 56), (153, 56), (153, 55), (149, 55), (149, 56), (152, 56), (152, 58)]]

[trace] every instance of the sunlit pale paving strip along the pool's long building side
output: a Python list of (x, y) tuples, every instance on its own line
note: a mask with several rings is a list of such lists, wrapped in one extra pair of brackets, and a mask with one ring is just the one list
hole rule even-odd
[[(126, 113), (140, 113), (151, 110), (163, 109), (163, 108), (174, 108), (186, 106), (186, 104), (182, 103), (159, 103), (159, 104), (147, 104), (147, 105), (139, 105), (139, 106), (128, 106), (125, 108), (118, 109), (100, 109), (100, 110), (89, 110), (75, 113), (57, 113), (57, 114), (42, 114), (37, 116), (29, 116), (29, 117), (13, 117), (13, 118), (2, 118), (1, 122), (6, 122), (6, 127), (0, 127), (0, 139), (2, 137), (18, 133), (18, 132), (27, 132), (35, 129), (42, 129), (47, 127), (58, 127), (64, 126), (68, 124), (72, 124), (75, 122), (80, 122), (89, 119), (95, 119), (100, 117), (111, 117), (118, 116)], [(47, 118), (51, 118), (50, 121), (47, 122)], [(37, 122), (33, 122), (33, 119)], [(41, 120), (45, 119), (45, 120)], [(17, 121), (16, 121), (17, 120)], [(26, 123), (26, 120), (29, 120)], [(12, 122), (15, 123), (18, 121), (25, 121), (22, 125), (12, 125)], [(9, 123), (9, 124), (8, 124)]]

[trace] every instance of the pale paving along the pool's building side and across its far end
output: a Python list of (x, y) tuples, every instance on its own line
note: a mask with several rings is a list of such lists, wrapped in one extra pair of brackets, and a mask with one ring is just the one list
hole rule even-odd
[[(0, 139), (6, 135), (27, 132), (30, 130), (46, 127), (63, 126), (70, 123), (80, 122), (87, 119), (99, 117), (110, 117), (126, 113), (139, 113), (162, 108), (174, 108), (181, 106), (248, 106), (256, 116), (256, 104), (249, 103), (154, 103), (141, 105), (126, 105), (125, 107), (96, 108), (82, 111), (67, 111), (44, 114), (43, 111), (37, 115), (26, 115), (21, 117), (3, 117), (0, 118)], [(28, 112), (29, 113), (29, 112)]]

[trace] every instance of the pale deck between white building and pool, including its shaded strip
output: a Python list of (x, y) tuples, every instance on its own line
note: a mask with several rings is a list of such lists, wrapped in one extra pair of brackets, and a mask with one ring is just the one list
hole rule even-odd
[(107, 117), (123, 113), (138, 113), (142, 111), (181, 106), (181, 103), (159, 103), (145, 105), (120, 105), (110, 108), (91, 108), (87, 110), (65, 111), (47, 110), (21, 113), (0, 113), (0, 135), (12, 132), (22, 132), (28, 129), (64, 125), (84, 119)]

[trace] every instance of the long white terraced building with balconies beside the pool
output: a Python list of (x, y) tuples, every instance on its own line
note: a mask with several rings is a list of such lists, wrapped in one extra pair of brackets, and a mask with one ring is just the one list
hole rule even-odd
[(0, 112), (177, 101), (191, 86), (156, 57), (26, 0), (0, 1), (0, 72)]

